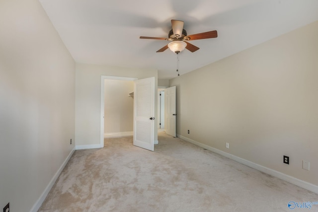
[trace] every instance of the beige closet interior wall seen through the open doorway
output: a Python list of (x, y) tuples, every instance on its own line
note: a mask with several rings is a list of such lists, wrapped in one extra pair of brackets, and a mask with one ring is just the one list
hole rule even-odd
[(105, 79), (105, 134), (133, 132), (134, 98), (128, 95), (133, 91), (133, 81)]

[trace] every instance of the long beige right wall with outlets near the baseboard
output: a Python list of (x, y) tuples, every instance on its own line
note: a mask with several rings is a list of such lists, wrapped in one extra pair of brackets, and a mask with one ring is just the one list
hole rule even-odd
[(315, 22), (171, 79), (177, 134), (318, 185), (317, 38)]

